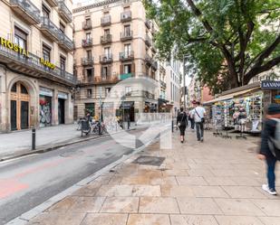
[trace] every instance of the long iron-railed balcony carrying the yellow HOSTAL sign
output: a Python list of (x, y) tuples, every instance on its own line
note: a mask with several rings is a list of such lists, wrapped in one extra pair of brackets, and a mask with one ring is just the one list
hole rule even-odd
[(76, 84), (76, 79), (72, 73), (61, 70), (56, 66), (50, 69), (43, 65), (40, 57), (32, 53), (29, 53), (29, 57), (25, 57), (23, 54), (5, 47), (5, 45), (0, 45), (0, 62), (5, 63), (8, 68), (18, 73), (37, 79), (52, 80), (69, 87)]

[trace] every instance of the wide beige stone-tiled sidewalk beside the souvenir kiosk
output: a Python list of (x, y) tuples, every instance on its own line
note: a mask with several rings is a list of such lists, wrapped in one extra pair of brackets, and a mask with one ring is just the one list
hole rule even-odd
[[(266, 179), (264, 164), (256, 159), (258, 138), (230, 140), (207, 132), (205, 143), (198, 143), (194, 133), (187, 139), (180, 144), (176, 133), (169, 150), (150, 145), (28, 224), (280, 224), (280, 198), (260, 188)], [(139, 156), (156, 158), (136, 164)], [(280, 178), (279, 169), (276, 175)], [(277, 186), (280, 191), (280, 179)]]

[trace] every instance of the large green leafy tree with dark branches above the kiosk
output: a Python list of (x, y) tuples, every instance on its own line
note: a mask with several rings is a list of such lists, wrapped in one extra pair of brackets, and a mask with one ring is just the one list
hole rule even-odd
[(143, 1), (159, 24), (159, 57), (167, 59), (175, 49), (214, 93), (279, 65), (279, 0)]

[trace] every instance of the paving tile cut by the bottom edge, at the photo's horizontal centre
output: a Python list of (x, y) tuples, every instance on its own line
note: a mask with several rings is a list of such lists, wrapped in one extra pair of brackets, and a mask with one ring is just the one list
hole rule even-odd
[(130, 214), (127, 225), (170, 225), (166, 214)]

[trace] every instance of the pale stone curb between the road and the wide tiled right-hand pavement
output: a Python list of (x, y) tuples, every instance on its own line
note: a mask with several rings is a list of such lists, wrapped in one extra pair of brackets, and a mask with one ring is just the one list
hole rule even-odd
[(149, 143), (147, 143), (145, 145), (142, 145), (139, 148), (133, 150), (130, 153), (130, 155), (122, 155), (122, 157), (119, 160), (117, 160), (117, 161), (115, 161), (111, 164), (106, 165), (101, 170), (97, 171), (96, 173), (93, 173), (92, 175), (82, 179), (82, 181), (73, 184), (71, 187), (64, 190), (63, 192), (60, 192), (60, 193), (54, 195), (49, 200), (47, 200), (47, 201), (43, 202), (42, 204), (34, 207), (34, 209), (24, 212), (22, 215), (18, 216), (14, 220), (10, 220), (9, 222), (6, 223), (6, 225), (24, 225), (24, 224), (26, 224), (27, 222), (32, 220), (35, 216), (37, 216), (39, 213), (41, 213), (41, 212), (47, 210), (48, 208), (50, 208), (54, 203), (62, 201), (65, 197), (67, 197), (68, 195), (72, 194), (73, 192), (79, 190), (80, 188), (82, 188), (82, 186), (85, 186), (88, 183), (91, 183), (92, 181), (94, 181), (95, 179), (100, 177), (103, 173), (110, 172), (111, 169), (113, 169), (117, 165), (123, 163), (124, 161), (128, 160), (131, 156), (140, 153), (144, 148), (146, 148), (147, 146), (157, 142), (158, 140), (159, 140), (159, 137), (156, 137), (155, 139), (150, 140)]

